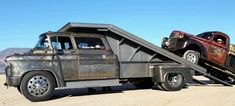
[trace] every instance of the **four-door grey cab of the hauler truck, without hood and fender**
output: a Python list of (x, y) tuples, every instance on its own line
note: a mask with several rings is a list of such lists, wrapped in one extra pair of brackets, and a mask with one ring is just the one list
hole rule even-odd
[[(58, 56), (65, 80), (118, 78), (118, 60), (106, 38), (99, 34), (46, 33), (34, 54)], [(54, 70), (56, 71), (56, 70)]]

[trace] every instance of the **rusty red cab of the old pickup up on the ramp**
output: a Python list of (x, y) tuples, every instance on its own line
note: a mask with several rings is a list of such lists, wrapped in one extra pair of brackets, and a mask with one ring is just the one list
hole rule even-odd
[(202, 46), (207, 51), (205, 58), (208, 61), (225, 66), (229, 55), (229, 36), (221, 32), (206, 32), (197, 37), (205, 39), (201, 41)]

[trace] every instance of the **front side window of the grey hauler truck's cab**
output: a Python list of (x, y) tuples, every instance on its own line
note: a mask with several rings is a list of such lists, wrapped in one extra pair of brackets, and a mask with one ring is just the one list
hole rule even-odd
[(69, 37), (51, 37), (51, 45), (54, 49), (73, 49)]

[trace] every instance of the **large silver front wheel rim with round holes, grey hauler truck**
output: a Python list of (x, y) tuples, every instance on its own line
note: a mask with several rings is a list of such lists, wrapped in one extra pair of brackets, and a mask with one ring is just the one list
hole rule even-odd
[(29, 80), (27, 88), (31, 95), (41, 97), (47, 94), (50, 88), (50, 83), (44, 76), (34, 76)]

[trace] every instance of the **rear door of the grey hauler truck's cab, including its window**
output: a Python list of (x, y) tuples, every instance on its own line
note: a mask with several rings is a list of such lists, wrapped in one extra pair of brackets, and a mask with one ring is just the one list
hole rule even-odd
[(117, 57), (109, 48), (105, 38), (75, 37), (78, 48), (78, 79), (118, 78)]

